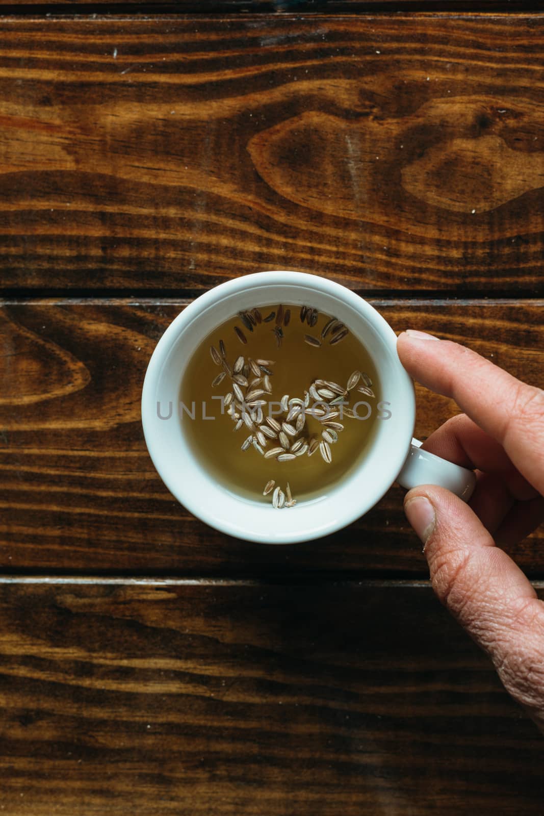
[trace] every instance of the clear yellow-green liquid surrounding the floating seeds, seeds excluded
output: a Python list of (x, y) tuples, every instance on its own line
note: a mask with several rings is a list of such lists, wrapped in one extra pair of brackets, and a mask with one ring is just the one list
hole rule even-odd
[[(382, 399), (378, 372), (365, 348), (351, 332), (340, 342), (332, 345), (329, 342), (331, 339), (329, 334), (322, 340), (320, 348), (314, 348), (305, 342), (304, 335), (321, 339), (321, 330), (329, 321), (329, 316), (320, 313), (316, 326), (310, 327), (300, 320), (300, 306), (284, 304), (284, 310), (288, 308), (290, 321), (287, 326), (282, 326), (283, 339), (280, 348), (277, 347), (274, 320), (257, 324), (253, 331), (245, 328), (238, 315), (225, 321), (197, 348), (188, 363), (179, 390), (179, 419), (184, 435), (201, 465), (232, 493), (268, 503), (271, 496), (263, 497), (263, 488), (271, 479), (284, 491), (286, 482), (289, 481), (293, 498), (300, 502), (316, 494), (326, 494), (331, 486), (356, 467), (374, 437), (379, 421), (378, 402)], [(277, 312), (277, 304), (259, 308), (262, 317), (267, 317), (272, 311)], [(237, 338), (234, 326), (241, 329), (247, 344), (242, 344)], [(221, 366), (216, 365), (210, 355), (212, 345), (219, 351), (220, 340), (223, 340), (225, 359), (231, 367), (240, 355), (245, 357), (245, 361), (248, 357), (253, 360), (274, 361), (270, 366), (273, 372), (270, 376), (272, 394), (265, 394), (261, 398), (275, 403), (281, 401), (284, 394), (303, 399), (304, 390), (308, 391), (313, 379), (331, 380), (345, 388), (347, 379), (354, 370), (365, 372), (372, 380), (375, 397), (365, 396), (355, 388), (345, 399), (348, 400), (348, 406), (354, 406), (356, 402), (368, 402), (371, 406), (369, 418), (351, 419), (344, 416), (343, 419), (338, 417), (333, 420), (343, 424), (344, 429), (337, 431), (338, 442), (330, 445), (331, 463), (324, 461), (319, 450), (311, 457), (305, 454), (287, 462), (265, 459), (253, 446), (248, 450), (241, 450), (241, 444), (250, 435), (250, 429), (242, 424), (238, 431), (233, 431), (236, 422), (228, 415), (227, 409), (223, 415), (221, 414), (219, 399), (212, 399), (221, 395), (224, 397), (232, 391), (232, 380), (229, 375), (225, 375), (221, 384), (215, 388), (211, 386), (213, 379), (223, 370)], [(253, 374), (248, 375), (250, 381), (253, 378)], [(362, 381), (358, 384), (363, 385)], [(242, 388), (244, 393), (247, 390), (249, 389)], [(205, 415), (215, 419), (203, 418), (202, 402), (206, 406)], [(182, 403), (189, 411), (194, 410), (194, 419), (187, 411), (182, 410)], [(314, 400), (311, 399), (310, 406), (313, 403)], [(277, 410), (277, 405), (272, 410)], [(365, 406), (360, 406), (357, 411), (361, 416), (368, 413)], [(267, 413), (268, 406), (263, 406), (263, 414), (266, 416)], [(271, 415), (279, 422), (285, 420), (285, 415), (277, 413)], [(290, 424), (294, 425), (295, 421), (292, 420)], [(290, 437), (290, 442), (299, 437), (310, 437), (312, 434), (321, 440), (323, 430), (325, 426), (319, 419), (307, 415), (305, 428), (296, 437)], [(276, 439), (267, 438), (267, 443), (265, 451), (279, 446)]]

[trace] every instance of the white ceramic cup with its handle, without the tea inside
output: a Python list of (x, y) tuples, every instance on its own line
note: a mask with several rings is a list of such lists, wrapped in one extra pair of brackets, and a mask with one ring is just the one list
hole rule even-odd
[[(391, 403), (391, 419), (376, 419), (374, 441), (355, 472), (324, 495), (285, 512), (272, 508), (272, 503), (241, 498), (218, 484), (195, 457), (179, 417), (179, 387), (199, 344), (232, 315), (274, 303), (311, 304), (338, 317), (372, 357), (382, 393)], [(172, 415), (161, 419), (170, 403)], [(400, 364), (391, 326), (345, 286), (299, 272), (239, 277), (195, 299), (157, 343), (142, 392), (145, 441), (166, 487), (210, 526), (261, 543), (295, 543), (333, 533), (372, 508), (394, 481), (406, 488), (443, 486), (468, 501), (474, 472), (420, 450), (421, 443), (412, 438), (414, 420), (414, 386)]]

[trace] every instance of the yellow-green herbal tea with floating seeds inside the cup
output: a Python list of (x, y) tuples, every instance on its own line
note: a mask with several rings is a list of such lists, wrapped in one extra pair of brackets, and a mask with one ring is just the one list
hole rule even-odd
[(326, 494), (387, 416), (365, 348), (311, 306), (254, 308), (224, 322), (189, 361), (179, 397), (201, 464), (226, 489), (275, 508)]

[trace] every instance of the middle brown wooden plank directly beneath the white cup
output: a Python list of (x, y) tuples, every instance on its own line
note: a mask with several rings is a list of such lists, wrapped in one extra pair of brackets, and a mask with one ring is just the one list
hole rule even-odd
[[(396, 330), (465, 341), (544, 387), (542, 301), (376, 302)], [(2, 312), (0, 566), (166, 574), (365, 570), (427, 574), (393, 487), (356, 524), (318, 543), (255, 546), (188, 515), (153, 468), (139, 419), (154, 345), (183, 304), (7, 304)], [(425, 438), (458, 409), (418, 388)], [(512, 548), (544, 574), (540, 534)]]

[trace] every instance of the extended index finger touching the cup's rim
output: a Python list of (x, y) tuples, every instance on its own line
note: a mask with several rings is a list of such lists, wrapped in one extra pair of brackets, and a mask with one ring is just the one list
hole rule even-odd
[(496, 439), (520, 473), (544, 493), (544, 391), (450, 340), (431, 342), (403, 332), (397, 341), (409, 375), (452, 397)]

